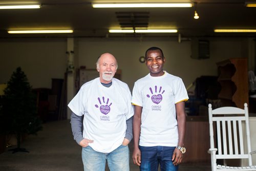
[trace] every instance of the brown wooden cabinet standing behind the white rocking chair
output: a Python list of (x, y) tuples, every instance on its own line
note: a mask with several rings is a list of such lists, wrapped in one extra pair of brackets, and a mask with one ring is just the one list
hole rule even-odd
[(244, 108), (248, 103), (247, 58), (230, 58), (217, 62), (221, 91), (218, 98), (222, 106)]

